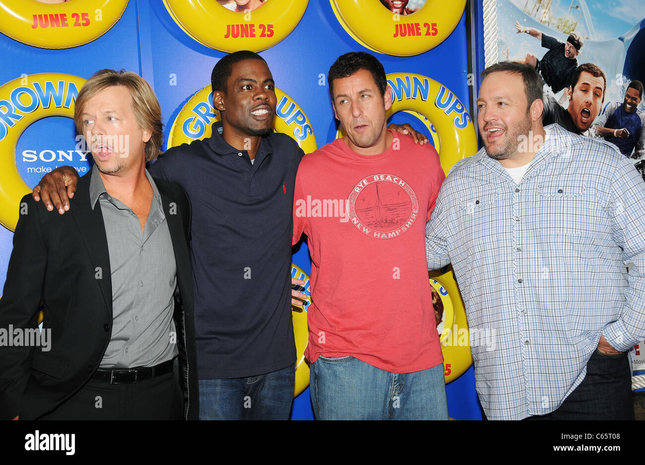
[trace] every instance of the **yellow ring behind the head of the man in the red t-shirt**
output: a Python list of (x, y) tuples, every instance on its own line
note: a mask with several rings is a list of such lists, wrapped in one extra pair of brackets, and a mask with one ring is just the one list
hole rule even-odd
[[(393, 90), (387, 117), (413, 112), (430, 120), (436, 130), (430, 131), (430, 137), (435, 141), (444, 173), (448, 174), (459, 160), (477, 153), (477, 135), (468, 109), (446, 86), (421, 74), (391, 73), (386, 78)], [(428, 127), (426, 121), (422, 122)], [(339, 126), (336, 137), (344, 135)]]

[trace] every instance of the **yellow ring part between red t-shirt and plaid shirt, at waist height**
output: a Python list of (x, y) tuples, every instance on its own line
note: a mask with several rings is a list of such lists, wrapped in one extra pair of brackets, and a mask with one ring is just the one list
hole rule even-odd
[(473, 364), (466, 310), (452, 267), (445, 273), (432, 271), (428, 275), (430, 285), (437, 290), (444, 306), (443, 321), (437, 330), (444, 356), (444, 379), (448, 384), (459, 378)]

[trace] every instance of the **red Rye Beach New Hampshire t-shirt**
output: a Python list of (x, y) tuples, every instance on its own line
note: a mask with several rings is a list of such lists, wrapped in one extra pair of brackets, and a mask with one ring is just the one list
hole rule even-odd
[(303, 232), (309, 238), (312, 363), (352, 355), (412, 373), (443, 361), (425, 226), (445, 176), (430, 144), (393, 137), (379, 155), (359, 155), (337, 139), (298, 168), (293, 243)]

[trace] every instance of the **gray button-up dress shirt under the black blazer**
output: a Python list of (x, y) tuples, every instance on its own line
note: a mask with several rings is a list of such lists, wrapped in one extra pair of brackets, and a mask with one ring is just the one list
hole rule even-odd
[(155, 366), (177, 355), (175, 255), (161, 196), (147, 170), (146, 177), (154, 195), (142, 234), (137, 215), (106, 192), (92, 168), (90, 205), (101, 204), (112, 279), (112, 337), (101, 368)]

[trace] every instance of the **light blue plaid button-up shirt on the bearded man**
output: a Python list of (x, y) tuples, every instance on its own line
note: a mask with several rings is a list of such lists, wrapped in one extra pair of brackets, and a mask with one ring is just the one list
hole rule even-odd
[(613, 145), (547, 129), (519, 184), (483, 148), (455, 164), (426, 225), (428, 269), (452, 262), (471, 336), (493, 335), (471, 344), (490, 419), (556, 410), (601, 334), (645, 335), (645, 183)]

